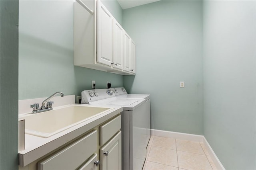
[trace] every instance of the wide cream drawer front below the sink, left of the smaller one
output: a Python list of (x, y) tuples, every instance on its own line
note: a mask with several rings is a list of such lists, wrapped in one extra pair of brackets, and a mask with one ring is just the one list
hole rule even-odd
[(38, 170), (74, 170), (97, 150), (97, 131), (37, 163)]

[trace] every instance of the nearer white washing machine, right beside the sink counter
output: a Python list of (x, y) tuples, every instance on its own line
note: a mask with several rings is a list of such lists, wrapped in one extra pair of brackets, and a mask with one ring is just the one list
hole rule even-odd
[[(119, 98), (118, 89), (82, 91), (81, 104), (94, 106), (122, 106), (122, 169), (142, 170), (147, 155), (150, 100)], [(150, 129), (149, 129), (150, 131)], [(150, 134), (149, 134), (150, 137)]]

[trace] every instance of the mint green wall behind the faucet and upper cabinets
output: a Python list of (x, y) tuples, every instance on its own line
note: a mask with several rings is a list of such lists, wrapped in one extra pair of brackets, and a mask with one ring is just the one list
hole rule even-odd
[[(81, 95), (82, 90), (123, 86), (123, 76), (73, 66), (74, 0), (20, 1), (19, 100), (48, 97), (56, 91)], [(118, 2), (104, 1), (120, 20)]]

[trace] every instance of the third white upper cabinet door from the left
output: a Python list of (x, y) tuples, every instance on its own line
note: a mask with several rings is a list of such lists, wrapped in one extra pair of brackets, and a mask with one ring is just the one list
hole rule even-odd
[(131, 37), (124, 31), (124, 71), (130, 72)]

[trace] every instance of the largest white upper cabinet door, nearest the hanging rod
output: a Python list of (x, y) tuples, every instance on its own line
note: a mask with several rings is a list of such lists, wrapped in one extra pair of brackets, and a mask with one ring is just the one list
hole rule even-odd
[(98, 1), (97, 17), (97, 62), (111, 66), (113, 62), (113, 16), (100, 1)]

